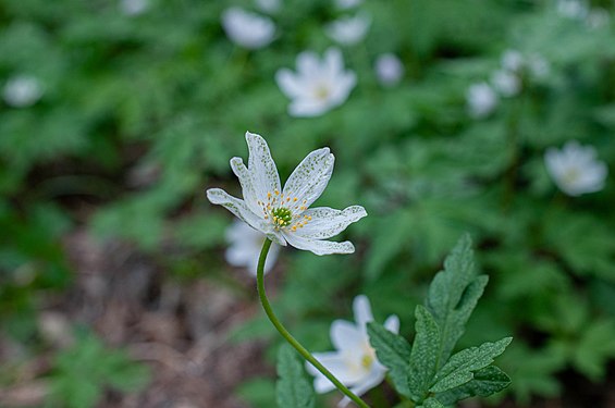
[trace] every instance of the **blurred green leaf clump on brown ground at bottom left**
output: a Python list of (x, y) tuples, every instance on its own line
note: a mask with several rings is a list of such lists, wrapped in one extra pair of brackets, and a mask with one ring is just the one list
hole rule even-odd
[(69, 408), (96, 406), (107, 387), (139, 391), (150, 378), (147, 367), (131, 360), (123, 350), (107, 348), (87, 332), (58, 353), (52, 369), (49, 380), (53, 404)]

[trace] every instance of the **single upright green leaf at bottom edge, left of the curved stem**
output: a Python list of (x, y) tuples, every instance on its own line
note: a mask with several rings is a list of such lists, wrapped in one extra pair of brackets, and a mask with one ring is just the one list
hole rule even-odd
[(296, 351), (290, 346), (278, 353), (276, 399), (280, 408), (313, 408), (313, 388), (306, 379)]

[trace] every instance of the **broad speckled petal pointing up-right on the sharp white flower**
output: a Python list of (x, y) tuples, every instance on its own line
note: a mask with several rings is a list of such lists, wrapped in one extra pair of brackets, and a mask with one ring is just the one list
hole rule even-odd
[(327, 187), (334, 162), (335, 157), (328, 147), (310, 152), (288, 177), (284, 196), (296, 197), (298, 202), (309, 207)]

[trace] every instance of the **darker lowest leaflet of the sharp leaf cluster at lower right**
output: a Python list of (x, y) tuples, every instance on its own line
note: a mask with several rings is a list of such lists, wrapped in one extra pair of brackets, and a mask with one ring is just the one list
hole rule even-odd
[(436, 395), (438, 400), (452, 405), (462, 399), (499, 393), (511, 384), (511, 379), (495, 366), (489, 366), (473, 373), (473, 379), (458, 387)]

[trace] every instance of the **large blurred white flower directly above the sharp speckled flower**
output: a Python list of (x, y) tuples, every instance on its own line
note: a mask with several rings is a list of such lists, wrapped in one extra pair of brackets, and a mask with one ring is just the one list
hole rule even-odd
[(293, 101), (288, 113), (293, 116), (318, 116), (337, 107), (348, 98), (357, 78), (344, 71), (342, 52), (330, 48), (322, 61), (311, 51), (297, 57), (297, 73), (287, 69), (275, 73), (280, 89)]

